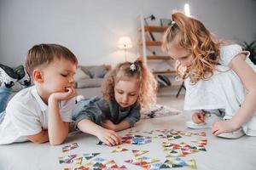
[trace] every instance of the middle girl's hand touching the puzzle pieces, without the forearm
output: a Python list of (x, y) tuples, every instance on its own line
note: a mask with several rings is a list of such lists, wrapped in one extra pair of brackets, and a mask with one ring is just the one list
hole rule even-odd
[(114, 132), (113, 130), (108, 130), (103, 128), (99, 133), (96, 134), (96, 137), (100, 139), (105, 144), (109, 146), (121, 144), (121, 137), (118, 133)]

